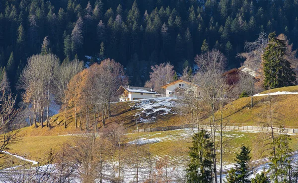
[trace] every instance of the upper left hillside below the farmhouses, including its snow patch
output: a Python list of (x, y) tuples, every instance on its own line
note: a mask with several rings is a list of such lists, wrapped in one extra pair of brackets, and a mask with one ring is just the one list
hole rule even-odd
[[(137, 123), (139, 128), (147, 127), (162, 127), (168, 125), (184, 124), (180, 116), (177, 115), (176, 106), (177, 99), (171, 98), (156, 98), (129, 102), (111, 103), (111, 117), (106, 120), (106, 126), (109, 128), (114, 123), (124, 125), (126, 132), (132, 132), (136, 129)], [(91, 111), (92, 109), (90, 109)], [(68, 110), (67, 128), (64, 128), (64, 112), (61, 112), (50, 119), (53, 126), (51, 130), (48, 128), (37, 129), (34, 126), (29, 126), (21, 130), (26, 136), (47, 136), (47, 135), (64, 135), (68, 133), (85, 132), (85, 117), (82, 117), (83, 130), (75, 128), (75, 122), (72, 114), (74, 111)], [(97, 117), (97, 116), (96, 116)], [(94, 119), (90, 119), (92, 123)], [(99, 116), (99, 129), (102, 127), (102, 119)]]

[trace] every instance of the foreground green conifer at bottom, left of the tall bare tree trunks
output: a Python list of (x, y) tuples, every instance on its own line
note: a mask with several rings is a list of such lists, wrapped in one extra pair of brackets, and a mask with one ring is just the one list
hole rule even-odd
[(200, 130), (192, 137), (190, 163), (186, 169), (187, 183), (212, 183), (212, 142), (205, 130)]

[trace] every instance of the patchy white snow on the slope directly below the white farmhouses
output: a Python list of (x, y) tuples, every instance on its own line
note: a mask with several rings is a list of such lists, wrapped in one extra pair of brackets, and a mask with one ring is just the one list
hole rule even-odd
[(176, 105), (174, 100), (176, 100), (175, 97), (161, 97), (155, 99), (139, 100), (136, 101), (134, 105), (131, 105), (131, 107), (136, 107), (142, 110), (135, 115), (140, 117), (140, 122), (151, 122), (151, 120), (156, 119), (155, 116), (146, 119), (142, 118), (141, 116), (146, 115), (146, 117), (148, 117), (149, 115), (152, 115), (159, 111), (164, 111), (164, 113), (160, 115), (167, 115), (171, 113), (172, 108)]

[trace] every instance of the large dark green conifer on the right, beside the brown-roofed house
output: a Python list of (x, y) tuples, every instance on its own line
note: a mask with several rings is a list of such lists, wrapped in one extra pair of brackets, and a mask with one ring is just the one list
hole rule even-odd
[(286, 56), (286, 41), (279, 40), (275, 33), (269, 34), (269, 43), (263, 54), (264, 87), (279, 88), (296, 83), (296, 74)]

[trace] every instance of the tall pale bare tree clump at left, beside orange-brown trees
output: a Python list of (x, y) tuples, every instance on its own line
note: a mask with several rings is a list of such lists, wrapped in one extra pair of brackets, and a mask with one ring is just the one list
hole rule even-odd
[[(28, 59), (19, 80), (18, 87), (23, 89), (23, 99), (32, 105), (33, 122), (37, 127), (36, 119), (39, 110), (39, 122), (43, 127), (44, 110), (47, 110), (49, 121), (49, 106), (51, 88), (53, 86), (54, 72), (58, 68), (59, 59), (53, 54), (35, 55)], [(49, 125), (47, 123), (47, 125)]]

